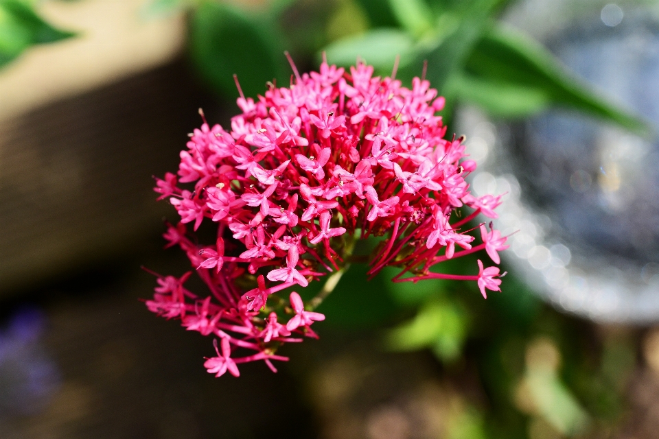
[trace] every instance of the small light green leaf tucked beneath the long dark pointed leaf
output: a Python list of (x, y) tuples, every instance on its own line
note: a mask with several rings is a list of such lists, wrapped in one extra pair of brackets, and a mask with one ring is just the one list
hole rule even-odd
[(496, 82), (468, 74), (457, 76), (452, 88), (456, 99), (478, 105), (494, 117), (524, 117), (540, 112), (551, 104), (551, 98), (540, 88)]

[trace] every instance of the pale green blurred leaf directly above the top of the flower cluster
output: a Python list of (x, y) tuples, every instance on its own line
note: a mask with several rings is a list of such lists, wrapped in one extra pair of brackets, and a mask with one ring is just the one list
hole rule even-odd
[(415, 54), (411, 36), (397, 29), (377, 29), (367, 34), (344, 38), (323, 50), (330, 64), (347, 67), (354, 65), (357, 58), (361, 58), (378, 71), (391, 71), (396, 56), (400, 55), (401, 64), (405, 64)]

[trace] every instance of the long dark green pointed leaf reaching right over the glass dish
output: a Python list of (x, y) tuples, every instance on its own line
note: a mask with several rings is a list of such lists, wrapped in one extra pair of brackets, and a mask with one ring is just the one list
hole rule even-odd
[[(518, 31), (491, 27), (478, 40), (467, 60), (466, 70), (483, 82), (516, 84), (544, 94), (553, 104), (587, 112), (638, 134), (650, 132), (640, 117), (599, 97), (583, 80), (568, 73), (547, 49)], [(537, 95), (536, 99), (539, 97)], [(524, 105), (530, 106), (530, 103)]]

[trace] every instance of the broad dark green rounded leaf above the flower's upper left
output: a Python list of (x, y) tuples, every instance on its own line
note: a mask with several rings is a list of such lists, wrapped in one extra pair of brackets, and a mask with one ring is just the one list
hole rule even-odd
[(190, 27), (192, 58), (223, 95), (238, 95), (234, 74), (246, 96), (264, 93), (268, 81), (288, 84), (290, 67), (277, 45), (281, 38), (266, 21), (207, 1), (194, 13)]

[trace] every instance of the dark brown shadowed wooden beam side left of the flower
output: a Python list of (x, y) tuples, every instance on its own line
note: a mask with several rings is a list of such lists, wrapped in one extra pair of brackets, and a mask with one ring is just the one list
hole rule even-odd
[(175, 171), (212, 99), (177, 61), (0, 126), (0, 296), (163, 230), (152, 175)]

